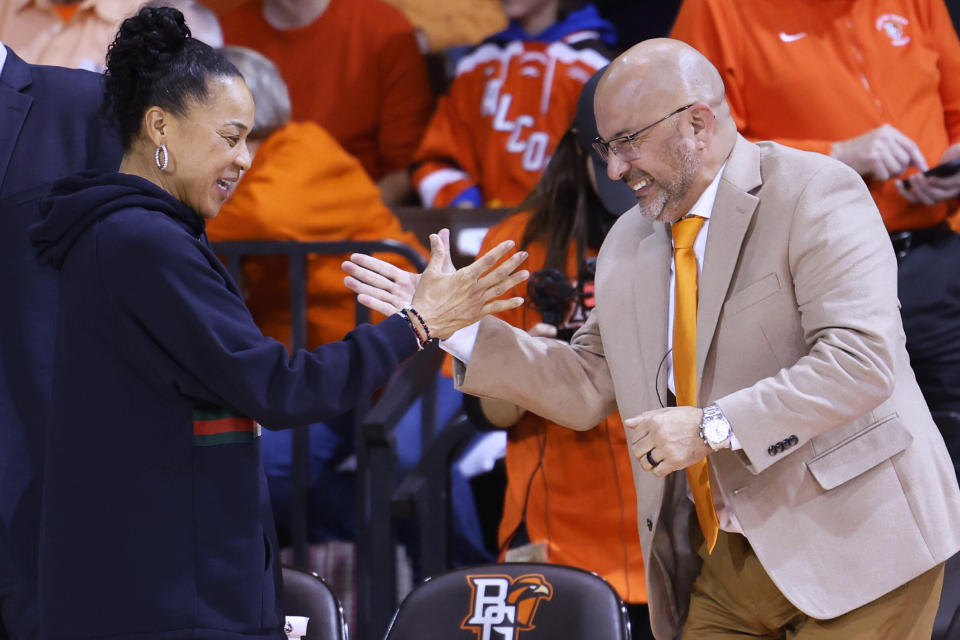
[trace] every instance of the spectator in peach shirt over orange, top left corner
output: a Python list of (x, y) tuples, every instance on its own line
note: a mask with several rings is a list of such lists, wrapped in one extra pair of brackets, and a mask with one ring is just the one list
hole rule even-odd
[(0, 39), (32, 64), (103, 71), (107, 46), (144, 0), (4, 0)]

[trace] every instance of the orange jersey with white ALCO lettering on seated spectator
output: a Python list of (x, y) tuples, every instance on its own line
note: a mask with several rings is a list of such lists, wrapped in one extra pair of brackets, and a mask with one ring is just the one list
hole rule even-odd
[(606, 63), (560, 41), (487, 42), (464, 56), (414, 160), (424, 206), (450, 206), (472, 187), (474, 204), (520, 204), (570, 127), (583, 85)]

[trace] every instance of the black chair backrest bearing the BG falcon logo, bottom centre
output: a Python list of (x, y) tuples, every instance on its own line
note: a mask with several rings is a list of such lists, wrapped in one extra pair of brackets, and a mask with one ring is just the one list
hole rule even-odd
[(387, 640), (629, 640), (626, 607), (600, 576), (503, 563), (449, 571), (400, 604)]

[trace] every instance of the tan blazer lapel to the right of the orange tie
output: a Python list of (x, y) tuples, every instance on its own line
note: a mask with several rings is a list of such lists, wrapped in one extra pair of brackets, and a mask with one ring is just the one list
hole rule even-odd
[(700, 275), (697, 305), (697, 380), (713, 342), (720, 310), (727, 297), (740, 247), (760, 200), (749, 192), (760, 186), (760, 150), (737, 136), (720, 179), (710, 214), (707, 249)]

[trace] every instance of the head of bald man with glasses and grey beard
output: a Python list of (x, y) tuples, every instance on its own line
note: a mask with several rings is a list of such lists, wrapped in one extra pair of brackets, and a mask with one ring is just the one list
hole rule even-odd
[(613, 141), (607, 176), (662, 222), (686, 215), (736, 143), (720, 74), (679, 40), (646, 40), (611, 62), (594, 113), (600, 137)]

